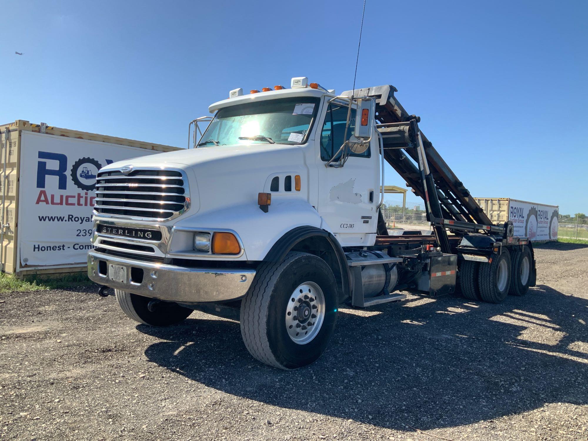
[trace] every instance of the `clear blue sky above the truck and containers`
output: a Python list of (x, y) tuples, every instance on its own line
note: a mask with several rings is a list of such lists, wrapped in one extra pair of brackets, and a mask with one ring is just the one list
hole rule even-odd
[[(9, 11), (0, 123), (183, 147), (188, 122), (230, 89), (292, 76), (350, 89), (362, 1), (21, 0)], [(368, 0), (356, 86), (396, 86), (472, 195), (588, 213), (587, 18), (586, 1)]]

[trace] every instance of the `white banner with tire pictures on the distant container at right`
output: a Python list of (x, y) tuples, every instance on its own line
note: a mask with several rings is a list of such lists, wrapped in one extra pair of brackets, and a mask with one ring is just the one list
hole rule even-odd
[(509, 220), (515, 226), (515, 236), (530, 240), (557, 239), (557, 218), (559, 208), (510, 199)]

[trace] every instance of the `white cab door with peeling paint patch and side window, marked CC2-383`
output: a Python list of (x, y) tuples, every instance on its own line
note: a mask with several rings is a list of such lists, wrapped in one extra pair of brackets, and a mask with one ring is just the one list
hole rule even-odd
[[(342, 246), (373, 245), (380, 202), (380, 161), (376, 135), (363, 153), (350, 153), (340, 168), (326, 167), (343, 142), (353, 140), (356, 111), (352, 108), (345, 134), (348, 104), (330, 103), (320, 129), (318, 212)], [(337, 158), (336, 158), (337, 159)], [(333, 163), (336, 161), (333, 161)]]

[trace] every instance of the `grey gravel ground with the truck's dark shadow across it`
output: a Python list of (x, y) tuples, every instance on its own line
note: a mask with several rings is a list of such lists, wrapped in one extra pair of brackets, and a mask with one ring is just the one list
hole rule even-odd
[(93, 287), (2, 294), (0, 438), (587, 439), (588, 248), (536, 257), (537, 287), (502, 305), (342, 309), (293, 372), (250, 357), (231, 320), (156, 329)]

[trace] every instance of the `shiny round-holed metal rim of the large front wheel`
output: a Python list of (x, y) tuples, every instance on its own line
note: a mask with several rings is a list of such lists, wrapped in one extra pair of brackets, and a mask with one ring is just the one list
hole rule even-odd
[(286, 330), (294, 343), (306, 345), (325, 320), (325, 295), (315, 282), (301, 283), (288, 298)]

